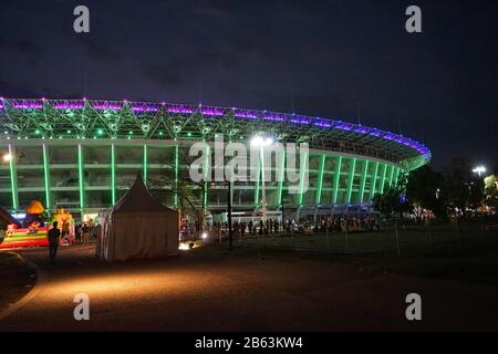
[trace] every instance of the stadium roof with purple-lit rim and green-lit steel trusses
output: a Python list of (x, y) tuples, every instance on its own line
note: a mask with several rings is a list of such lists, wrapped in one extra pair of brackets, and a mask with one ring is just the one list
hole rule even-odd
[(430, 159), (423, 144), (342, 119), (189, 104), (0, 98), (2, 138), (142, 138), (247, 140), (264, 132), (281, 142), (382, 158), (412, 170)]

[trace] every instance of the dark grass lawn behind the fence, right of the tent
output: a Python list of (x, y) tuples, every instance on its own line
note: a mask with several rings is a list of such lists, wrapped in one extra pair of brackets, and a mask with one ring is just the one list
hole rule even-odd
[[(498, 284), (498, 235), (480, 228), (400, 230), (400, 256), (393, 229), (378, 232), (268, 237), (234, 240), (236, 252), (259, 257), (341, 262), (369, 272)], [(219, 247), (219, 246), (218, 246)], [(224, 244), (222, 248), (227, 248)], [(250, 250), (251, 249), (251, 250)]]

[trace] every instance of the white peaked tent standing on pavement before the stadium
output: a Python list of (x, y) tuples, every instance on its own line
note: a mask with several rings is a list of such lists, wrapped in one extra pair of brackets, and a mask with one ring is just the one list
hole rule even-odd
[(112, 262), (178, 254), (178, 212), (155, 199), (141, 175), (98, 218), (96, 254), (102, 259)]

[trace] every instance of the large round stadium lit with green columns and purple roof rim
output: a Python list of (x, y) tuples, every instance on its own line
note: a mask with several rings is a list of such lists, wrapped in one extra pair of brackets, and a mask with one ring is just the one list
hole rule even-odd
[[(403, 171), (430, 158), (424, 145), (381, 129), (319, 117), (186, 104), (98, 100), (0, 100), (0, 205), (22, 212), (32, 199), (81, 216), (113, 205), (141, 171), (146, 180), (188, 178), (195, 142), (248, 143), (256, 133), (309, 144), (309, 188), (267, 183), (267, 209), (303, 216), (364, 210)], [(259, 181), (234, 183), (234, 210), (261, 209)], [(178, 198), (156, 190), (165, 205)], [(200, 206), (226, 209), (227, 186), (199, 187)], [(173, 196), (172, 196), (173, 195)], [(299, 218), (298, 216), (298, 218)]]

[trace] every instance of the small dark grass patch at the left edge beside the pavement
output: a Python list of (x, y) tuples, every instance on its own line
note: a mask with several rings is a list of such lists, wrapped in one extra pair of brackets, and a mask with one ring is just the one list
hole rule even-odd
[(37, 282), (37, 273), (17, 253), (0, 251), (0, 311), (20, 300)]

